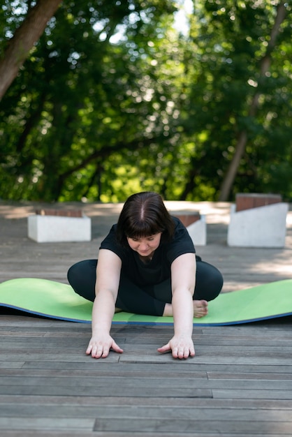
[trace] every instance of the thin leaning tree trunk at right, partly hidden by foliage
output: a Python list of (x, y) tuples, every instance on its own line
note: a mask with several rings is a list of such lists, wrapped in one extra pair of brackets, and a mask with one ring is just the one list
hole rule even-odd
[[(276, 38), (277, 35), (279, 34), (279, 28), (282, 22), (284, 21), (285, 16), (286, 16), (286, 7), (284, 6), (284, 1), (281, 1), (277, 6), (277, 15), (275, 17), (274, 26), (272, 27), (272, 31), (270, 34), (270, 41), (268, 43), (265, 56), (261, 59), (260, 77), (264, 77), (265, 73), (267, 73), (270, 68), (270, 63), (271, 63), (270, 54), (272, 53), (272, 50), (275, 48)], [(249, 117), (255, 117), (256, 115), (256, 111), (258, 109), (259, 96), (260, 94), (256, 93), (251, 101), (251, 105), (249, 108)], [(221, 192), (219, 195), (219, 201), (221, 202), (226, 202), (226, 200), (228, 200), (229, 198), (229, 195), (231, 193), (231, 188), (233, 186), (233, 182), (236, 177), (236, 173), (238, 172), (238, 167), (240, 165), (240, 159), (242, 158), (245, 147), (247, 145), (247, 140), (248, 140), (247, 131), (240, 132), (240, 135), (238, 137), (238, 142), (235, 146), (235, 153), (233, 159), (231, 161), (231, 164), (229, 165), (229, 168), (226, 172), (226, 176), (221, 185)]]

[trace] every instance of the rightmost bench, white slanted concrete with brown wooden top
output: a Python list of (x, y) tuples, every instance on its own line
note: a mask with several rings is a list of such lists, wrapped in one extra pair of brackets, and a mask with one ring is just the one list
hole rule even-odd
[(228, 246), (284, 247), (288, 204), (280, 195), (240, 193), (231, 205)]

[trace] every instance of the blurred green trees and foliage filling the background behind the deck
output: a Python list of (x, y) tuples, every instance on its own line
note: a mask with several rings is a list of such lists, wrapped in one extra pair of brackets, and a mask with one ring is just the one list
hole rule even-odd
[[(36, 3), (2, 1), (0, 64)], [(64, 0), (1, 98), (0, 198), (292, 202), (291, 59), (288, 1)]]

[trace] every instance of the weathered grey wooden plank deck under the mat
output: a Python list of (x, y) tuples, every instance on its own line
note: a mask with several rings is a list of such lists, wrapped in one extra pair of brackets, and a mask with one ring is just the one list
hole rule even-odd
[[(90, 243), (38, 244), (27, 238), (34, 207), (0, 202), (0, 281), (66, 282), (73, 262), (96, 257), (120, 210), (85, 205)], [(224, 292), (291, 278), (291, 210), (284, 249), (240, 249), (226, 246), (228, 204), (196, 208), (207, 214), (207, 246), (197, 251), (221, 269)], [(114, 325), (124, 353), (93, 360), (90, 325), (1, 311), (0, 435), (291, 437), (291, 327), (291, 317), (195, 327), (196, 357), (180, 361), (156, 352), (172, 327)]]

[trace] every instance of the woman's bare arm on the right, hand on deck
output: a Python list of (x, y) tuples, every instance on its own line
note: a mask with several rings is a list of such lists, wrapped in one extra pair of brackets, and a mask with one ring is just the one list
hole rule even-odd
[(174, 358), (187, 358), (195, 355), (193, 334), (194, 306), (193, 295), (196, 283), (196, 256), (184, 253), (171, 265), (173, 288), (174, 336), (159, 352), (172, 351)]

